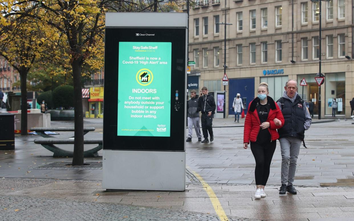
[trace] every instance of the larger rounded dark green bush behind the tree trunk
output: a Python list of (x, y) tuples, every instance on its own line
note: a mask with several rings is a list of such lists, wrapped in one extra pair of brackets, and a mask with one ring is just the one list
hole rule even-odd
[(53, 91), (54, 107), (68, 107), (74, 106), (74, 87), (70, 85), (59, 86)]

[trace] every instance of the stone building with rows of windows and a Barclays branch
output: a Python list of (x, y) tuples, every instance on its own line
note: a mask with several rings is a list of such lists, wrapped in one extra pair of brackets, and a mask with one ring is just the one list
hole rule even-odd
[[(321, 1), (321, 45), (319, 2), (310, 0), (214, 0), (189, 10), (188, 78), (199, 76), (199, 89), (223, 93), (224, 25), (226, 25), (226, 116), (233, 115), (232, 101), (240, 93), (245, 105), (257, 95), (260, 82), (267, 82), (270, 96), (279, 99), (285, 82), (305, 79), (298, 86), (305, 100), (313, 100), (318, 114), (321, 72), (321, 116), (331, 117), (332, 101), (338, 101), (336, 116), (350, 116), (354, 97), (352, 1)], [(208, 5), (208, 6), (206, 6)], [(186, 10), (184, 10), (186, 11)], [(226, 19), (225, 19), (226, 14)], [(232, 25), (231, 25), (232, 24)], [(321, 47), (321, 54), (319, 54)], [(217, 95), (215, 94), (215, 97)], [(219, 95), (218, 95), (219, 97)], [(218, 115), (217, 117), (222, 117)]]

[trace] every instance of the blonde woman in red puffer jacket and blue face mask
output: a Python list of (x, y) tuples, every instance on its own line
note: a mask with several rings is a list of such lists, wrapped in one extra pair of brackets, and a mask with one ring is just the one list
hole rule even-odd
[(268, 94), (268, 84), (262, 82), (258, 87), (257, 97), (249, 105), (244, 127), (244, 149), (250, 144), (256, 161), (256, 199), (266, 196), (264, 187), (269, 178), (276, 139), (279, 138), (276, 129), (284, 124), (278, 105)]

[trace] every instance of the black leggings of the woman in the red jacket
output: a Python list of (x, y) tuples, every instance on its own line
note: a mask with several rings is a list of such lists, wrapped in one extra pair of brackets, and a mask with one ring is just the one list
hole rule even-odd
[(251, 142), (251, 151), (256, 160), (256, 185), (267, 184), (275, 146), (276, 140), (262, 145)]

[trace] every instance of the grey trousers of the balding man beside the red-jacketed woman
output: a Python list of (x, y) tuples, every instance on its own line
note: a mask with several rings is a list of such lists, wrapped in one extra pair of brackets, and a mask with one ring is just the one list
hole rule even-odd
[(291, 136), (279, 139), (281, 150), (281, 184), (292, 185), (294, 182), (301, 141), (299, 138)]

